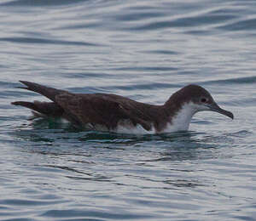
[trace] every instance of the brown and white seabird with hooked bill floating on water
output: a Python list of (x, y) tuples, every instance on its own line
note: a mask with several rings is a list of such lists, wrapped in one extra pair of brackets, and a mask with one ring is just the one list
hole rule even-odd
[[(75, 127), (116, 133), (170, 133), (186, 131), (198, 111), (215, 111), (234, 118), (221, 109), (205, 88), (188, 85), (181, 88), (164, 105), (149, 105), (116, 94), (74, 94), (20, 81), (26, 90), (42, 94), (51, 102), (15, 101), (32, 110), (35, 116), (61, 117)], [(18, 87), (23, 88), (23, 87)]]

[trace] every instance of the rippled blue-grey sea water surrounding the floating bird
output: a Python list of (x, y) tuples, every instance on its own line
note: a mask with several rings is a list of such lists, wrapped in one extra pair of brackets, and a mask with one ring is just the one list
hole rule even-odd
[[(1, 220), (255, 220), (255, 1), (0, 3)], [(27, 122), (18, 80), (163, 104), (189, 83), (235, 120), (124, 135)]]

